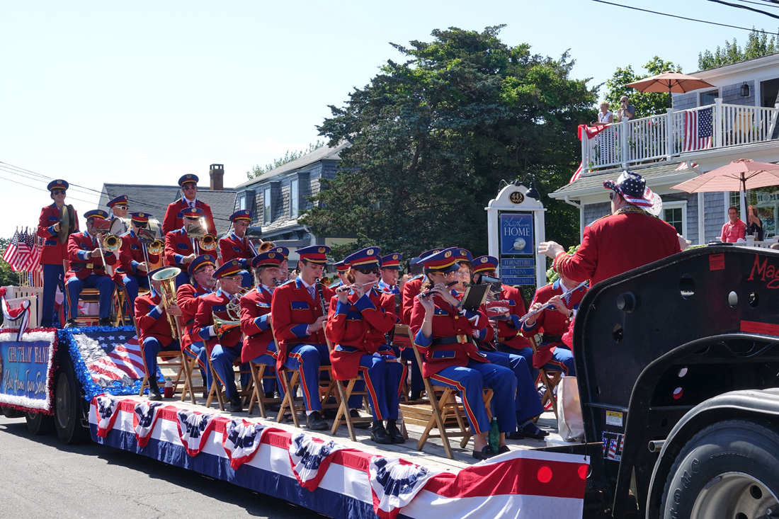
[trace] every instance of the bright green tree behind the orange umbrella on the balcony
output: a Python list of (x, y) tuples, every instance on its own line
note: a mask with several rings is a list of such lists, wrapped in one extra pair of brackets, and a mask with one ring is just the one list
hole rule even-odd
[(624, 68), (617, 67), (614, 75), (606, 81), (607, 91), (604, 100), (614, 111), (615, 122), (617, 110), (619, 109), (619, 98), (622, 96), (629, 97), (630, 104), (636, 107), (636, 118), (664, 114), (665, 109), (668, 108), (668, 93), (639, 92), (635, 88), (627, 87), (626, 85), (645, 77), (656, 76), (666, 70), (682, 72), (682, 67), (674, 65), (673, 62), (663, 61), (655, 56), (650, 62), (643, 65), (643, 69), (647, 71), (646, 74), (636, 74), (631, 65), (627, 65)]

